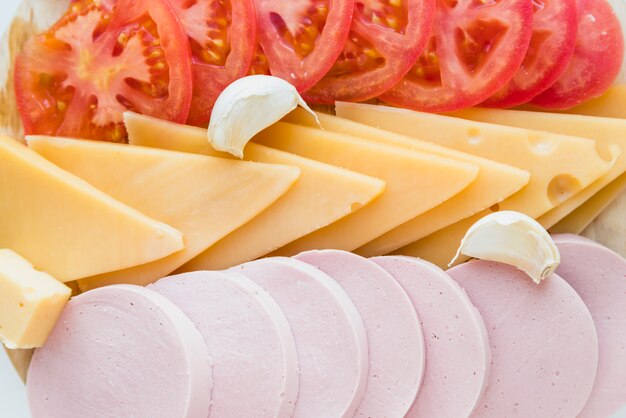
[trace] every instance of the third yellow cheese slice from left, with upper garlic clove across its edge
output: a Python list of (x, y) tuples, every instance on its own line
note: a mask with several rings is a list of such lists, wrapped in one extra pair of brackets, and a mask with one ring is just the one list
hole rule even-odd
[[(211, 148), (206, 129), (133, 113), (125, 121), (133, 144), (232, 158)], [(245, 159), (297, 166), (300, 179), (271, 207), (180, 271), (224, 269), (262, 257), (367, 205), (385, 188), (382, 180), (254, 143), (246, 146)]]

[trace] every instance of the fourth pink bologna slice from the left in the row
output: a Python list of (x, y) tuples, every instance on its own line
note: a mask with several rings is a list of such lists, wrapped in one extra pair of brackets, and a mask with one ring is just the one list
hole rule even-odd
[(369, 347), (367, 391), (355, 417), (403, 417), (424, 375), (424, 336), (413, 303), (398, 282), (372, 261), (338, 250), (295, 257), (328, 274), (358, 309)]

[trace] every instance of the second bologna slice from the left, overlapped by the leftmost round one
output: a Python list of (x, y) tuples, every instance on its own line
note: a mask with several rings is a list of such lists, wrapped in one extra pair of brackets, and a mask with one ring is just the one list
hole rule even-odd
[(291, 416), (298, 396), (296, 347), (267, 293), (242, 275), (210, 271), (167, 277), (149, 288), (179, 306), (209, 347), (209, 417)]

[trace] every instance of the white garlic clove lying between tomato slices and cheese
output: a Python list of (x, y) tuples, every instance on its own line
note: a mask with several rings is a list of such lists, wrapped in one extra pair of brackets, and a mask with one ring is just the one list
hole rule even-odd
[(317, 115), (294, 86), (269, 75), (252, 75), (234, 81), (217, 98), (209, 122), (209, 143), (218, 151), (243, 158), (254, 135), (282, 119), (298, 105)]

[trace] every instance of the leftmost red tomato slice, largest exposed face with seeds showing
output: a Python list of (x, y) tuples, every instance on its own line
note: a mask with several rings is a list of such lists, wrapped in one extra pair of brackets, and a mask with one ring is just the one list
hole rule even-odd
[(74, 2), (17, 57), (15, 89), (26, 134), (123, 141), (124, 111), (187, 119), (189, 43), (165, 0)]

